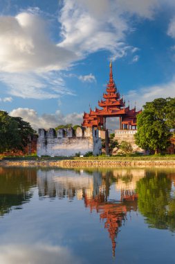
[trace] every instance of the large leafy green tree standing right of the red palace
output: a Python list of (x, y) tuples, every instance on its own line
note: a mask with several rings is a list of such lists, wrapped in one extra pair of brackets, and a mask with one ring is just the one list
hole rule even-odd
[[(158, 98), (146, 103), (144, 110), (137, 116), (138, 132), (136, 144), (142, 149), (163, 151), (169, 146), (172, 135), (170, 129), (175, 128), (175, 99)], [(174, 113), (174, 115), (171, 115)]]

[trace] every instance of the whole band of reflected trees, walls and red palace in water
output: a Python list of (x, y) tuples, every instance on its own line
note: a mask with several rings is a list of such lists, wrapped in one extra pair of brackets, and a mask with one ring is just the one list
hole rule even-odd
[(36, 186), (39, 199), (82, 200), (104, 222), (113, 256), (118, 232), (131, 211), (139, 211), (150, 227), (175, 231), (174, 170), (0, 168), (0, 174), (1, 215), (12, 208), (22, 208), (33, 197)]

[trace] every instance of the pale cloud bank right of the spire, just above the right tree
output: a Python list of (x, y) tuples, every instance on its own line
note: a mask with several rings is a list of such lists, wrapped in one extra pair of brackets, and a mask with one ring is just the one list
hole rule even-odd
[(140, 90), (130, 90), (126, 97), (132, 106), (136, 101), (137, 108), (142, 108), (147, 101), (153, 101), (156, 98), (175, 97), (175, 77), (169, 83), (140, 88)]

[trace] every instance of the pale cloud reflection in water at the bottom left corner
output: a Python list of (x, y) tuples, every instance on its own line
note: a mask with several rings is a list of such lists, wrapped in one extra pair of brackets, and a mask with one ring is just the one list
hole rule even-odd
[(0, 245), (0, 263), (79, 264), (82, 263), (82, 260), (77, 256), (73, 256), (67, 247), (52, 245)]

